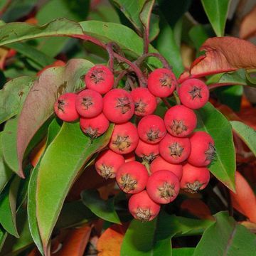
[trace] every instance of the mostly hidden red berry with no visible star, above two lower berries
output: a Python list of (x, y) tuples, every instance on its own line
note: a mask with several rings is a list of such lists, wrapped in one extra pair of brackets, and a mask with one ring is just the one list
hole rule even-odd
[(165, 161), (161, 156), (156, 157), (154, 161), (150, 164), (150, 171), (153, 174), (159, 170), (168, 170), (175, 174), (179, 181), (182, 177), (182, 165), (181, 164), (170, 164), (168, 161)]

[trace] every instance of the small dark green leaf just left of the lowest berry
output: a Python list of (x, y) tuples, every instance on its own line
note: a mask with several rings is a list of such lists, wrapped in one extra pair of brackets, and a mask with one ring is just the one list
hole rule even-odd
[(114, 197), (107, 201), (100, 198), (97, 190), (87, 190), (81, 193), (82, 202), (92, 210), (92, 213), (103, 220), (121, 224), (117, 212), (114, 210)]

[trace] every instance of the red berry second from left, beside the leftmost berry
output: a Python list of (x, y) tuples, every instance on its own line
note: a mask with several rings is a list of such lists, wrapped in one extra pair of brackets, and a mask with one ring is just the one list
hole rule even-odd
[(83, 90), (75, 100), (75, 108), (82, 117), (96, 117), (102, 112), (102, 95), (95, 90)]

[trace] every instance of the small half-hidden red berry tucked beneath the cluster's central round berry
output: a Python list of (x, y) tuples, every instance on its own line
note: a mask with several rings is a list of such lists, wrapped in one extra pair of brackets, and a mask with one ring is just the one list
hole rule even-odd
[(146, 161), (152, 161), (159, 155), (159, 144), (149, 144), (139, 139), (135, 154)]

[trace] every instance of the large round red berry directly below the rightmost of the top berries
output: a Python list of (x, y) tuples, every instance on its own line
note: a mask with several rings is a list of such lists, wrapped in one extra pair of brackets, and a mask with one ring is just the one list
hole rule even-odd
[(164, 123), (172, 136), (186, 137), (196, 128), (196, 114), (182, 105), (176, 105), (166, 111)]

